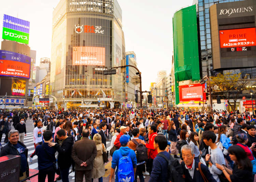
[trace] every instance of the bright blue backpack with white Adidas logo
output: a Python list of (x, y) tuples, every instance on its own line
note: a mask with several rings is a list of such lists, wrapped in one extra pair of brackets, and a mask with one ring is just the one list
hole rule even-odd
[(130, 158), (130, 153), (128, 156), (122, 156), (121, 152), (118, 152), (120, 158), (118, 161), (118, 182), (133, 182), (134, 181), (134, 171), (133, 165)]

